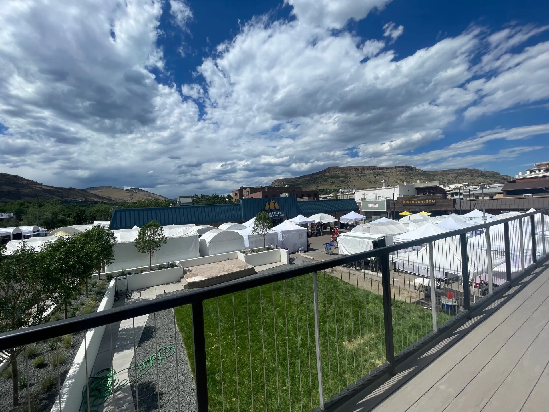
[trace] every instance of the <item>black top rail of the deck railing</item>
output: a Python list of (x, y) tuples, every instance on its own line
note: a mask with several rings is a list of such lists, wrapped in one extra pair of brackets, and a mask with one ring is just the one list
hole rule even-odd
[(69, 333), (93, 329), (94, 327), (108, 325), (114, 322), (135, 318), (137, 316), (146, 315), (161, 310), (172, 309), (186, 304), (201, 302), (205, 299), (216, 298), (229, 293), (236, 293), (258, 286), (268, 285), (273, 282), (292, 279), (294, 277), (310, 274), (312, 272), (320, 272), (342, 264), (349, 264), (357, 260), (376, 258), (381, 255), (396, 252), (397, 250), (412, 248), (414, 246), (419, 246), (428, 242), (435, 242), (449, 237), (460, 236), (475, 230), (501, 225), (506, 222), (534, 216), (535, 214), (540, 213), (549, 213), (549, 209), (536, 210), (535, 212), (525, 213), (520, 216), (501, 219), (497, 222), (475, 225), (471, 228), (441, 233), (440, 235), (368, 250), (367, 252), (361, 252), (354, 255), (324, 260), (308, 265), (299, 265), (293, 269), (283, 269), (264, 275), (248, 276), (207, 288), (188, 289), (187, 291), (183, 291), (176, 295), (156, 298), (154, 300), (150, 300), (149, 302), (135, 303), (132, 305), (122, 306), (120, 308), (113, 308), (88, 315), (78, 316), (77, 318), (64, 319), (11, 332), (4, 332), (0, 334), (0, 350), (34, 343), (44, 339), (68, 335)]

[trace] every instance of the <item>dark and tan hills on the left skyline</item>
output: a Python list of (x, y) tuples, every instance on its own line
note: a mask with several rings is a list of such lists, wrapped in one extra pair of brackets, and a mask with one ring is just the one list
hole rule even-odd
[(136, 187), (122, 190), (118, 187), (99, 186), (82, 190), (74, 187), (43, 185), (42, 183), (25, 179), (21, 176), (0, 173), (0, 202), (32, 202), (37, 197), (42, 199), (58, 199), (61, 201), (105, 203), (128, 203), (140, 200), (166, 199), (159, 194), (150, 193)]

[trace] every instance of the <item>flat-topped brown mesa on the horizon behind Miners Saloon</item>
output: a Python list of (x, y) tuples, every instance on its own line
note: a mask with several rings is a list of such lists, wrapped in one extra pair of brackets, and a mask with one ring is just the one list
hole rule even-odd
[(439, 181), (441, 185), (451, 183), (469, 183), (474, 185), (484, 183), (502, 183), (512, 180), (511, 176), (502, 175), (495, 171), (480, 169), (448, 169), (448, 170), (421, 170), (413, 166), (392, 166), (382, 168), (378, 166), (333, 166), (309, 175), (277, 179), (271, 184), (274, 186), (292, 185), (305, 189), (340, 189), (355, 187), (367, 189), (381, 187), (382, 180), (387, 186), (401, 185), (404, 182), (417, 183)]

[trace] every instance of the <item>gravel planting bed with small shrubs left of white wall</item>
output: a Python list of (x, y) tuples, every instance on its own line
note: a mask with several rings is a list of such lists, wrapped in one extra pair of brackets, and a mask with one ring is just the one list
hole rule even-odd
[[(92, 281), (97, 280), (97, 275), (92, 277)], [(105, 281), (107, 283), (107, 281)], [(83, 289), (82, 289), (83, 290)], [(89, 297), (96, 296), (97, 286), (95, 288), (89, 287)], [(94, 310), (97, 310), (99, 303), (103, 296), (97, 296), (94, 302)], [(72, 300), (72, 307), (79, 305), (79, 309), (75, 310), (75, 316), (81, 315), (85, 307), (85, 303), (88, 298), (85, 294), (79, 295), (76, 299)], [(69, 307), (69, 315), (71, 312), (71, 307)], [(63, 310), (54, 311), (52, 318), (63, 319)], [(84, 338), (83, 332), (72, 333), (72, 344), (68, 347), (64, 347), (59, 338), (59, 358), (63, 359), (63, 363), (59, 365), (59, 378), (61, 385), (65, 381), (65, 377), (69, 372), (69, 369), (72, 365), (80, 344)], [(53, 344), (53, 342), (52, 342)], [(31, 347), (30, 345), (29, 347)], [(51, 349), (48, 345), (48, 341), (36, 342), (36, 355), (29, 359), (29, 387), (30, 387), (30, 398), (31, 398), (31, 411), (49, 411), (57, 398), (59, 393), (59, 382), (58, 382), (58, 368), (54, 368), (52, 365), (52, 360), (55, 358), (56, 352), (55, 348)], [(33, 366), (33, 361), (37, 358), (43, 357), (46, 364), (41, 368)], [(23, 352), (18, 357), (18, 366), (19, 366), (19, 376), (23, 375), (26, 377), (26, 365), (25, 365), (25, 352)], [(10, 369), (10, 366), (8, 366)], [(12, 378), (6, 377), (5, 372), (2, 372), (0, 377), (0, 411), (15, 411), (22, 412), (27, 411), (28, 400), (27, 400), (27, 389), (21, 388), (19, 391), (19, 402), (20, 406), (18, 408), (13, 408), (13, 392), (12, 392)], [(49, 384), (49, 385), (48, 385)]]

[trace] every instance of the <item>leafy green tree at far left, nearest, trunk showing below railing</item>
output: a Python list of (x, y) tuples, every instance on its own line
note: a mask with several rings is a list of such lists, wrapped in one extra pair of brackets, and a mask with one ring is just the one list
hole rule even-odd
[[(44, 314), (53, 304), (54, 285), (44, 269), (41, 254), (26, 242), (10, 256), (0, 251), (0, 333), (44, 322)], [(0, 352), (0, 359), (12, 365), (14, 407), (19, 405), (17, 358), (24, 348), (20, 346)]]

